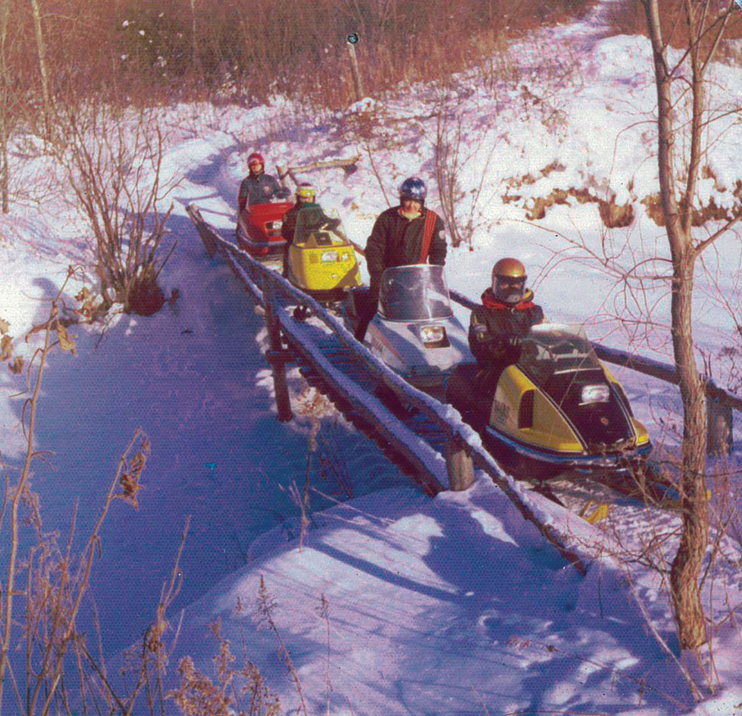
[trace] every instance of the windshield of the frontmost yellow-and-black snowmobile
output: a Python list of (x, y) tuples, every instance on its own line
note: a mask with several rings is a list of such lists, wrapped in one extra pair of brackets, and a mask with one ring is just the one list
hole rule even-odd
[(600, 365), (582, 325), (542, 323), (522, 341), (519, 365), (537, 385), (553, 375), (600, 371)]

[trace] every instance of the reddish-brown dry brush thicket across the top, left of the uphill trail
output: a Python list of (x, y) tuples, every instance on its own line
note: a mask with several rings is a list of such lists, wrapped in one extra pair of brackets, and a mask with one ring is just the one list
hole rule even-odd
[[(36, 116), (30, 3), (8, 0), (10, 75)], [(45, 0), (55, 101), (255, 102), (288, 93), (326, 107), (354, 98), (346, 38), (358, 33), (366, 93), (431, 82), (495, 56), (503, 39), (582, 16), (595, 0)], [(191, 13), (191, 7), (194, 12)], [(35, 97), (28, 102), (30, 96)]]

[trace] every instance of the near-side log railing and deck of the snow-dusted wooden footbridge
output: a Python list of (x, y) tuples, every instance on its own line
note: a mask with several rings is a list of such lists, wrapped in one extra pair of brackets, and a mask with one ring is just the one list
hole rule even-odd
[[(273, 371), (278, 420), (292, 419), (286, 365), (296, 364), (310, 385), (326, 394), (347, 420), (375, 440), (427, 494), (466, 489), (473, 482), (475, 468), (485, 471), (523, 517), (585, 574), (586, 555), (548, 520), (557, 505), (549, 503), (546, 508), (545, 497), (505, 474), (458, 411), (387, 368), (355, 340), (337, 316), (278, 271), (223, 239), (195, 205), (187, 211), (209, 256), (222, 256), (246, 293), (265, 311), (270, 342), (266, 359)], [(297, 305), (308, 306), (313, 319), (295, 319)]]

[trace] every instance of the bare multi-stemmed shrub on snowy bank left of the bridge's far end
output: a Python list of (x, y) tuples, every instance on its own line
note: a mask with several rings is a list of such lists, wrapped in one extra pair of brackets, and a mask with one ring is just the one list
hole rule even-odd
[(170, 253), (161, 259), (158, 251), (173, 208), (160, 213), (172, 186), (161, 183), (157, 116), (151, 110), (118, 114), (95, 102), (58, 116), (67, 134), (59, 159), (93, 234), (105, 308), (121, 303), (126, 313), (154, 314), (165, 302), (157, 276)]

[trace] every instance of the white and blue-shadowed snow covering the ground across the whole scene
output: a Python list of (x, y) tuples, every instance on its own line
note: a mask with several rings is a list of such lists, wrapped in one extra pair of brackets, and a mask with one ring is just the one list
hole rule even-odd
[[(517, 86), (490, 91), (476, 73), (458, 79), (457, 102), (466, 110), (462, 133), (473, 151), (462, 169), (459, 217), (473, 212), (475, 229), (473, 251), (450, 249), (448, 282), (478, 299), (493, 262), (504, 253), (516, 255), (528, 266), (536, 300), (550, 319), (585, 322), (591, 339), (667, 362), (667, 349), (661, 349), (668, 338), (666, 291), (652, 297), (660, 305), (657, 324), (647, 329), (649, 342), (640, 342), (641, 331), (623, 320), (628, 308), (622, 285), (588, 257), (604, 245), (634, 258), (667, 256), (662, 229), (639, 201), (634, 199), (637, 217), (626, 230), (606, 232), (597, 205), (574, 199), (549, 208), (535, 223), (525, 219), (529, 198), (557, 188), (588, 187), (603, 198), (614, 192), (618, 204), (657, 191), (649, 43), (602, 38), (590, 22), (524, 43), (523, 62), (546, 65), (561, 53), (579, 62), (559, 82), (548, 85), (533, 73)], [(598, 30), (586, 32), (590, 27)], [(718, 105), (736, 102), (740, 70), (719, 65), (714, 73)], [(177, 685), (177, 662), (186, 654), (214, 677), (209, 623), (220, 618), (233, 652), (244, 634), (249, 659), (280, 695), (284, 711), (298, 708), (275, 637), (251, 619), (264, 577), (312, 713), (324, 712), (329, 698), (329, 712), (337, 715), (732, 715), (742, 703), (742, 644), (735, 619), (724, 619), (742, 598), (740, 544), (731, 536), (723, 542), (726, 561), (719, 561), (703, 593), (709, 617), (719, 625), (713, 631), (718, 677), (712, 693), (692, 654), (678, 649), (657, 574), (614, 559), (618, 542), (638, 550), (653, 531), (677, 527), (677, 513), (648, 516), (638, 503), (613, 497), (608, 520), (591, 526), (514, 484), (541, 520), (571, 531), (588, 562), (582, 577), (484, 473), (468, 491), (425, 497), (375, 443), (307, 389), (296, 369), (289, 371), (295, 420), (276, 420), (262, 355), (263, 317), (226, 263), (206, 257), (185, 206), (196, 203), (207, 221), (230, 236), (234, 197), (251, 151), (266, 156), (269, 170), (360, 153), (355, 173), (327, 170), (306, 178), (363, 245), (386, 202), (367, 153), (338, 127), (349, 114), (395, 120), (386, 125), (394, 129), (374, 127), (370, 139), (384, 189), (393, 199), (401, 179), (423, 176), (429, 203), (438, 208), (430, 142), (435, 120), (420, 119), (434, 106), (429, 88), (416, 85), (403, 101), (364, 99), (341, 116), (312, 117), (280, 97), (249, 110), (203, 104), (162, 110), (169, 131), (163, 176), (172, 185), (165, 203), (175, 203), (164, 250), (175, 241), (177, 249), (161, 280), (165, 295), (177, 288), (180, 296), (149, 318), (118, 315), (105, 330), (71, 326), (77, 355), (56, 349), (49, 359), (34, 442), (50, 451), (33, 465), (44, 529), (66, 540), (79, 502), (75, 545), (82, 548), (137, 426), (151, 440), (139, 509), (114, 503), (93, 569), (91, 595), (108, 672), (116, 672), (124, 650), (140, 643), (154, 620), (190, 514), (180, 561), (183, 586), (168, 614), (174, 627), (185, 610), (168, 688)], [(416, 119), (404, 125), (397, 121), (402, 118)], [(732, 115), (713, 131), (718, 139), (706, 163), (715, 179), (703, 179), (699, 194), (703, 202), (731, 205), (742, 178), (741, 128)], [(53, 171), (50, 162), (34, 151), (39, 145), (33, 139), (24, 146), (26, 153), (16, 153), (11, 168), (24, 193), (0, 216), (0, 318), (10, 323), (16, 352), (30, 359), (39, 334), (27, 343), (24, 334), (45, 321), (68, 264), (89, 265), (91, 254), (82, 220), (42, 184), (40, 177)], [(563, 169), (542, 173), (557, 162)], [(485, 167), (474, 205), (470, 190)], [(509, 192), (522, 199), (503, 202), (508, 178), (522, 180), (528, 173), (536, 181)], [(39, 196), (40, 205), (33, 200)], [(732, 232), (708, 253), (708, 270), (697, 276), (695, 336), (713, 358), (720, 385), (733, 365), (718, 351), (738, 345), (732, 318), (739, 315), (741, 259), (741, 242)], [(362, 271), (365, 276), (364, 265)], [(68, 285), (68, 307), (76, 305), (73, 295), (81, 287), (77, 279)], [(725, 299), (732, 302), (729, 310)], [(456, 311), (467, 320), (465, 309)], [(611, 371), (653, 442), (672, 453), (678, 443), (673, 427), (681, 422), (677, 388), (625, 369)], [(25, 450), (19, 424), (25, 383), (24, 375), (0, 372), (0, 450), (11, 483)], [(451, 410), (435, 409), (442, 415)], [(313, 420), (319, 421), (318, 448), (310, 452)], [(403, 434), (395, 426), (390, 430)], [(739, 431), (735, 438), (740, 441)], [(430, 463), (441, 467), (440, 458), (430, 457)], [(732, 471), (738, 463), (735, 452)], [(311, 524), (299, 548), (301, 518), (289, 488), (303, 491), (308, 470)], [(733, 483), (729, 489), (734, 491)], [(566, 487), (565, 494), (578, 509), (600, 497), (583, 483)], [(22, 547), (32, 543), (30, 528), (24, 528)], [(7, 547), (0, 554), (3, 566), (5, 560)], [(329, 646), (328, 623), (317, 611), (322, 595), (329, 603)], [(242, 611), (236, 611), (238, 599)], [(79, 623), (93, 643), (91, 614), (91, 603), (85, 603)], [(701, 657), (708, 663), (708, 649)], [(683, 669), (695, 678), (703, 702), (694, 703)], [(10, 697), (10, 689), (5, 694)], [(177, 712), (166, 703), (168, 713)]]

